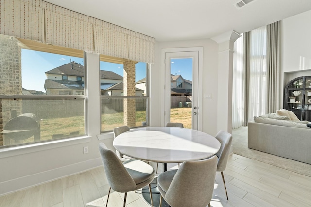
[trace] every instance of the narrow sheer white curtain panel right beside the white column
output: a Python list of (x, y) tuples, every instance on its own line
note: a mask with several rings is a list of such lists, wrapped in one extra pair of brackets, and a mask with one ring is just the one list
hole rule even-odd
[(232, 93), (232, 129), (235, 129), (242, 126), (243, 36), (234, 42)]

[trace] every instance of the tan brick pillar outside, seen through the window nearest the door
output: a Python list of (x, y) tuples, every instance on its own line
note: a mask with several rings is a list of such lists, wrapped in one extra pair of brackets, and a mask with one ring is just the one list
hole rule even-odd
[[(124, 96), (135, 96), (135, 61), (127, 60), (124, 63), (123, 94)], [(136, 104), (135, 99), (127, 98), (123, 102), (124, 125), (135, 127)]]

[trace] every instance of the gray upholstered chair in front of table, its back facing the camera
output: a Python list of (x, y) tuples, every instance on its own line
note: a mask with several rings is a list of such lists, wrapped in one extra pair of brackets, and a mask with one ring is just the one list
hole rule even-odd
[(162, 197), (172, 207), (210, 206), (213, 196), (217, 156), (199, 161), (185, 161), (177, 170), (161, 173), (157, 178)]

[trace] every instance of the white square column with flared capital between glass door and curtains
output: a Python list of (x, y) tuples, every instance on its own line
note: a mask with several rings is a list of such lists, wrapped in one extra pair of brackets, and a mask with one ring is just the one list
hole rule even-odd
[(229, 31), (212, 38), (218, 43), (217, 131), (232, 132), (233, 45), (239, 37)]

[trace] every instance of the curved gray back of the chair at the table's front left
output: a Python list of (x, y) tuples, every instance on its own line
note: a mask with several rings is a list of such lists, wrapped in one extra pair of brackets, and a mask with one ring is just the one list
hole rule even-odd
[(99, 144), (105, 174), (109, 186), (117, 192), (133, 191), (136, 188), (135, 181), (127, 172), (118, 156), (104, 143)]

